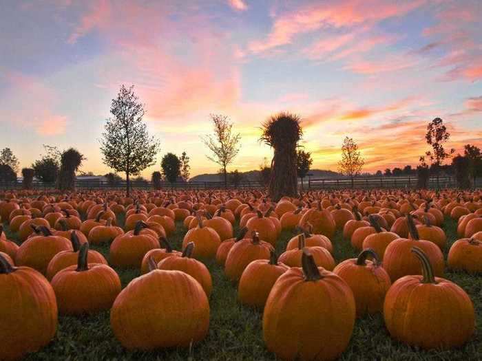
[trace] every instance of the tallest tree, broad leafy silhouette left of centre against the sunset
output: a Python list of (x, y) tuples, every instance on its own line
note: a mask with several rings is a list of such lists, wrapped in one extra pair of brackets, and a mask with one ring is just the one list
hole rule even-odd
[(107, 119), (101, 139), (103, 162), (116, 172), (125, 173), (129, 197), (129, 177), (156, 163), (159, 142), (147, 132), (144, 106), (134, 93), (134, 85), (121, 86), (117, 98), (112, 100), (110, 113), (113, 118)]

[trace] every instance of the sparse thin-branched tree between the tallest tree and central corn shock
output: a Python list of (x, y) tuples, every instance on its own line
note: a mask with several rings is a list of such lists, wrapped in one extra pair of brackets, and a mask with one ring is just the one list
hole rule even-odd
[(207, 155), (207, 159), (219, 164), (224, 175), (224, 186), (227, 186), (227, 166), (231, 164), (240, 151), (240, 133), (233, 133), (233, 123), (227, 116), (211, 114), (213, 122), (213, 134), (206, 135), (202, 141), (206, 144), (213, 155)]

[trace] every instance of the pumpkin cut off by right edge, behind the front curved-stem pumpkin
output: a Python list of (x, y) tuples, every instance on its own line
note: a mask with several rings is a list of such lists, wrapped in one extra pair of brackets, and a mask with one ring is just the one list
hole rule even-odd
[(448, 267), (470, 273), (482, 272), (482, 241), (463, 238), (455, 241), (448, 251)]

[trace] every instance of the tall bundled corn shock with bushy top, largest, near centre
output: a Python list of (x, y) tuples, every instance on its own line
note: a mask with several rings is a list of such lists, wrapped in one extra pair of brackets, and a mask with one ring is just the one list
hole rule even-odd
[(262, 124), (260, 140), (274, 149), (269, 179), (269, 197), (273, 201), (297, 195), (296, 149), (302, 136), (301, 118), (296, 114), (278, 113)]

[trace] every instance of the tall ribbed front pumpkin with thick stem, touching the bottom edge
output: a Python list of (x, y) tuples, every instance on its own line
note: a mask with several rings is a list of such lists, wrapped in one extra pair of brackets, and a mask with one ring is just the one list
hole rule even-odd
[(282, 360), (334, 360), (353, 333), (353, 292), (342, 278), (318, 268), (308, 250), (302, 265), (284, 272), (269, 293), (264, 342)]

